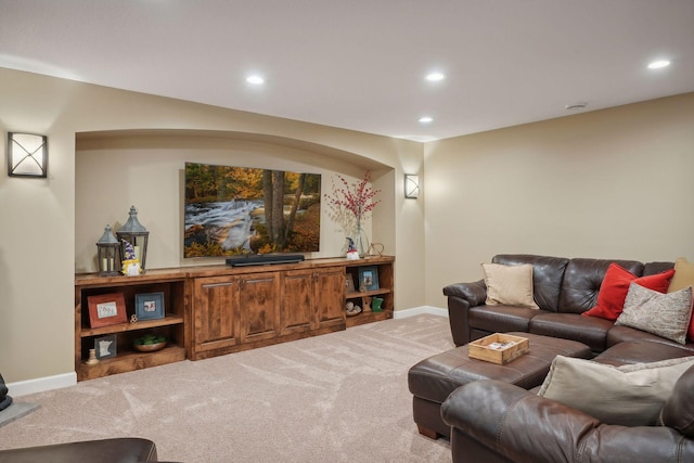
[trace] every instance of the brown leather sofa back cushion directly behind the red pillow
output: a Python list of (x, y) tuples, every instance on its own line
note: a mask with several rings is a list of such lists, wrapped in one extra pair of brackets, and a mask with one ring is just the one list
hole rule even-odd
[(618, 263), (624, 269), (637, 276), (643, 274), (643, 263), (637, 260), (609, 260), (609, 259), (570, 259), (564, 270), (558, 299), (558, 311), (565, 313), (583, 313), (595, 307), (597, 293), (607, 268), (612, 262)]

